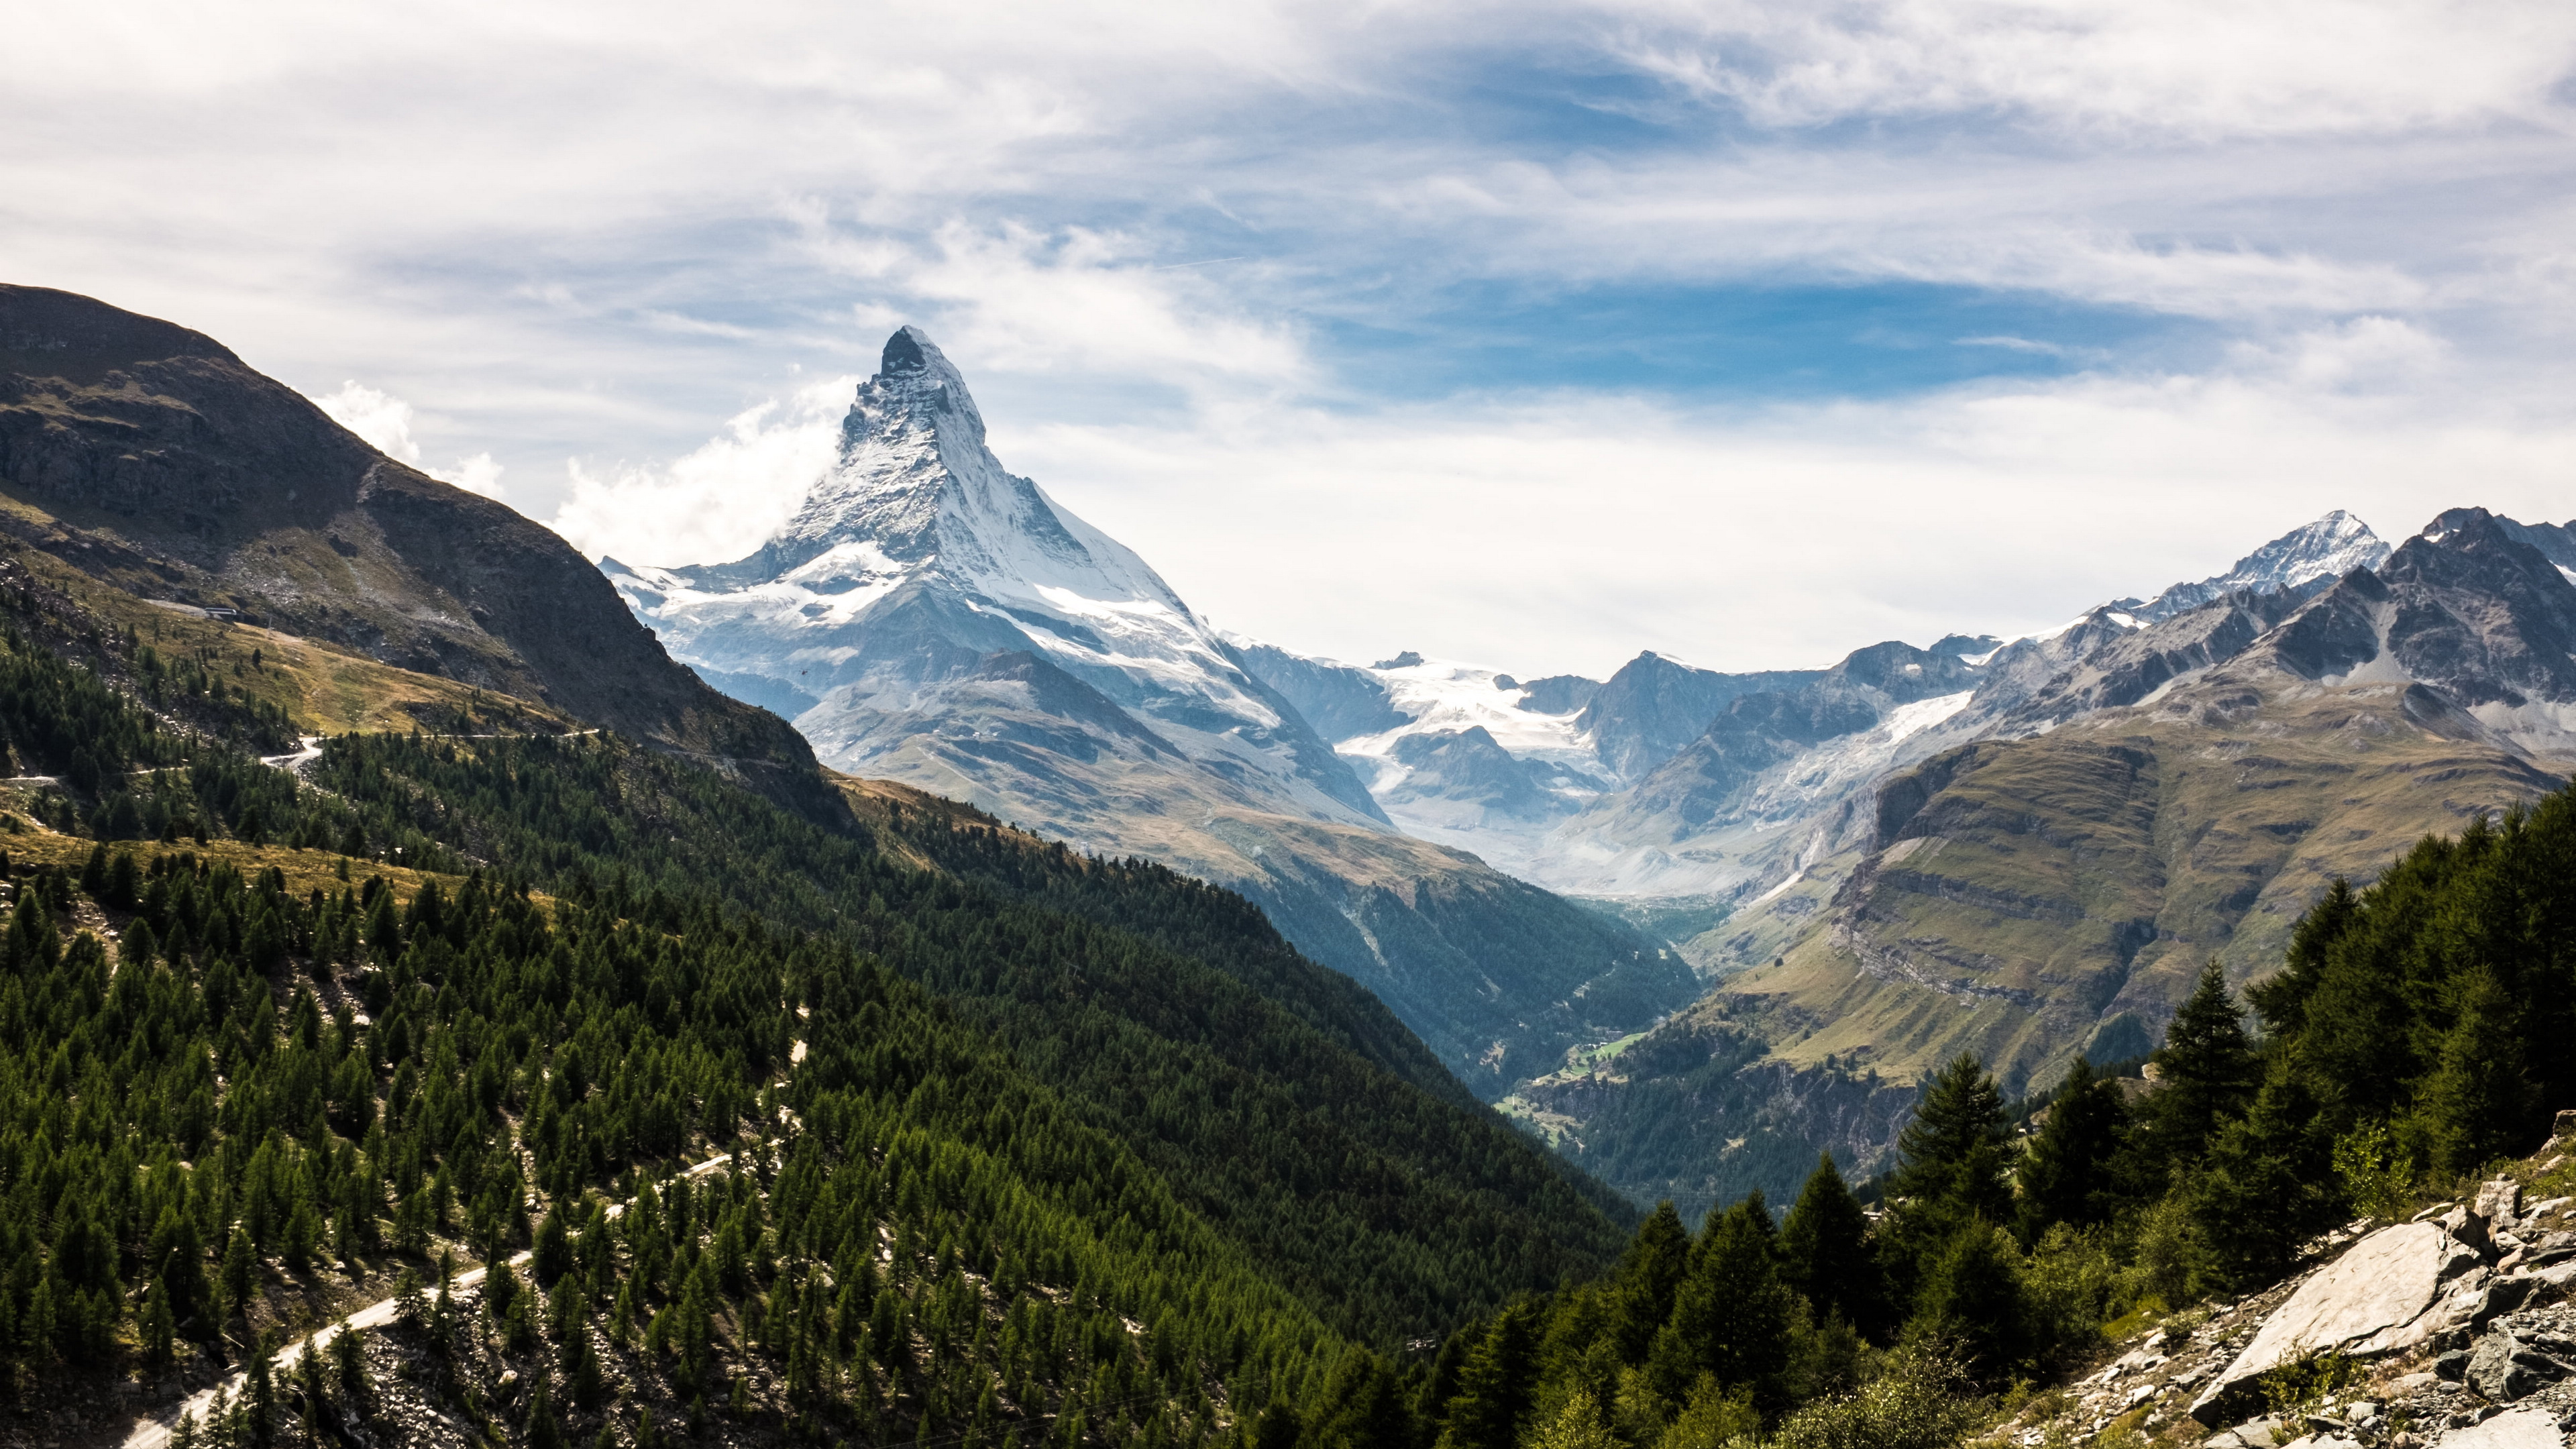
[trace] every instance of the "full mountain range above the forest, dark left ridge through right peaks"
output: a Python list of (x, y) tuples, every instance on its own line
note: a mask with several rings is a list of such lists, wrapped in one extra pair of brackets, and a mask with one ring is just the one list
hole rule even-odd
[(2576, 534), (2476, 508), (1811, 670), (1350, 665), (1010, 474), (914, 327), (755, 554), (592, 570), (211, 338), (0, 320), (10, 567), (100, 619), (268, 639), (312, 722), (605, 724), (832, 817), (819, 761), (1239, 890), (1641, 1199), (1875, 1163), (1958, 1049), (2136, 1057), (2197, 962), (2262, 975), (2331, 877), (2576, 758)]

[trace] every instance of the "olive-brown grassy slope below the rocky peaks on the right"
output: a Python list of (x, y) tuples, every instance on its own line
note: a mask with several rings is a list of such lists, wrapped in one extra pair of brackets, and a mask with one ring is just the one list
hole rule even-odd
[(2331, 879), (2563, 779), (2427, 730), (2403, 686), (2213, 678), (1891, 781), (1834, 928), (1723, 995), (1790, 1062), (1917, 1080), (1971, 1049), (2020, 1091), (2141, 1055), (2208, 959), (2277, 969)]

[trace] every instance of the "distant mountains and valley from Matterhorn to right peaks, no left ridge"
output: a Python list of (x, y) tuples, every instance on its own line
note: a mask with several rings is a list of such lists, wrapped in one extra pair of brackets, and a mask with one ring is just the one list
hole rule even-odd
[(1605, 681), (1226, 634), (889, 338), (760, 552), (603, 562), (817, 755), (1239, 890), (1633, 1201), (1886, 1165), (1958, 1052), (2143, 1057), (2336, 877), (2576, 761), (2576, 534), (2329, 513), (2025, 639)]

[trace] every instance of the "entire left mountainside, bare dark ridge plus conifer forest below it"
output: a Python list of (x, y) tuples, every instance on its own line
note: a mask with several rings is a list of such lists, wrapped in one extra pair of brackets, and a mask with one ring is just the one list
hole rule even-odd
[[(0, 1372), (46, 1439), (222, 1387), (201, 1441), (1198, 1444), (1636, 1222), (1244, 897), (822, 768), (219, 343), (44, 289), (0, 343)], [(1314, 753), (1273, 730), (1247, 779)]]

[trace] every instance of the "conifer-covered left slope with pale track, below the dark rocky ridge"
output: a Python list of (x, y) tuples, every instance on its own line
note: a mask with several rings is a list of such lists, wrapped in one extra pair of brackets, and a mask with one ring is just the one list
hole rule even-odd
[[(497, 1279), (489, 1323), (422, 1307), (412, 1336), (533, 1356), (549, 1423), (582, 1434), (739, 1410), (1203, 1441), (1273, 1400), (1383, 1400), (1399, 1369), (1358, 1343), (1615, 1248), (1597, 1189), (1406, 1080), (1425, 1055), (1365, 995), (1157, 866), (938, 825), (956, 864), (907, 869), (613, 737), (345, 737), (299, 786), (152, 719), (131, 676), (23, 632), (0, 652), (36, 681), (8, 701), (23, 755), (59, 748), (21, 724), (59, 719), (49, 699), (108, 722), (77, 735), (98, 786), (28, 810), (95, 835), (85, 866), (13, 871), (21, 1392), (258, 1364), (404, 1271), (435, 1287), (438, 1253), (533, 1245), (546, 1297)], [(18, 830), (28, 856), (72, 846)], [(299, 895), (209, 835), (340, 874)], [(404, 902), (394, 859), (451, 879)], [(665, 1178), (729, 1142), (742, 1171), (711, 1189)], [(629, 1364), (626, 1397), (600, 1364)], [(307, 1413), (337, 1395), (255, 1385)], [(260, 1439), (276, 1410), (227, 1423)]]

